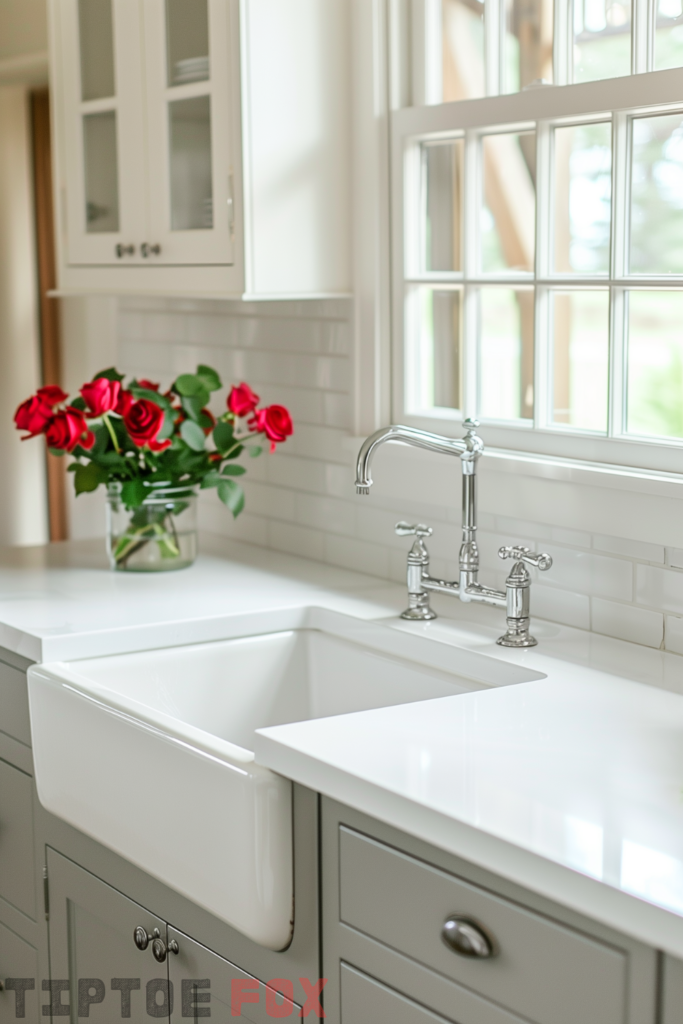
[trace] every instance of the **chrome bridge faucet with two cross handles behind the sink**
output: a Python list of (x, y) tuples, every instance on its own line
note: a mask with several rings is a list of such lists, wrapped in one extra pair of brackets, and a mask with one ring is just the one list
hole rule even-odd
[(415, 537), (415, 542), (408, 555), (408, 596), (409, 606), (402, 612), (401, 618), (425, 621), (436, 618), (429, 604), (431, 592), (447, 594), (461, 601), (479, 601), (482, 604), (493, 604), (498, 608), (506, 608), (507, 631), (499, 637), (498, 643), (503, 647), (535, 647), (538, 641), (529, 633), (529, 589), (531, 578), (527, 565), (545, 571), (553, 560), (550, 555), (537, 555), (528, 548), (504, 547), (498, 552), (503, 559), (513, 561), (510, 573), (505, 581), (505, 593), (485, 587), (478, 581), (479, 549), (476, 543), (476, 465), (483, 452), (483, 441), (476, 433), (479, 426), (476, 420), (465, 420), (467, 433), (462, 440), (453, 437), (442, 437), (427, 430), (417, 430), (414, 427), (393, 426), (377, 430), (368, 437), (358, 453), (355, 473), (355, 489), (359, 495), (369, 495), (372, 486), (370, 467), (377, 449), (386, 441), (400, 441), (415, 447), (426, 449), (429, 452), (439, 452), (460, 458), (463, 471), (463, 539), (460, 546), (460, 579), (457, 583), (436, 580), (429, 574), (429, 552), (424, 539), (431, 537), (432, 530), (422, 523), (411, 525), (407, 522), (396, 523), (396, 534), (399, 537)]

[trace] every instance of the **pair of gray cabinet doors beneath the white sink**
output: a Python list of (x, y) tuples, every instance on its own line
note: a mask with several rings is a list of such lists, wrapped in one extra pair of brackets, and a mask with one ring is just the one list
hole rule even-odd
[(268, 989), (53, 850), (47, 866), (51, 979), (42, 998), (53, 1018), (266, 1024), (299, 1016), (290, 983)]

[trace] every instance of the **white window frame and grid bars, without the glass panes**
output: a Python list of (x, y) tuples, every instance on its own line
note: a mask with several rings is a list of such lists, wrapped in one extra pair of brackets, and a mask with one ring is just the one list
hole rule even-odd
[[(427, 8), (434, 0), (422, 0)], [(488, 0), (490, 2), (490, 0)], [(440, 7), (440, 4), (438, 5)], [(629, 156), (630, 132), (634, 116), (683, 113), (683, 69), (647, 73), (652, 67), (654, 0), (633, 0), (633, 25), (645, 26), (639, 46), (632, 47), (632, 74), (629, 77), (582, 83), (543, 86), (519, 93), (489, 95), (481, 99), (405, 106), (391, 114), (391, 203), (392, 203), (392, 409), (394, 421), (451, 435), (461, 432), (461, 420), (477, 415), (477, 353), (475, 332), (465, 330), (463, 353), (463, 410), (461, 413), (435, 409), (421, 415), (407, 411), (405, 350), (411, 344), (407, 323), (407, 294), (418, 285), (463, 287), (462, 273), (420, 271), (415, 264), (420, 224), (420, 146), (425, 140), (464, 136), (465, 166), (473, 180), (482, 133), (490, 130), (512, 131), (536, 126), (537, 157), (537, 244), (536, 244), (536, 317), (535, 317), (535, 420), (514, 424), (481, 420), (487, 445), (499, 450), (536, 454), (541, 457), (644, 468), (665, 473), (683, 472), (683, 439), (638, 437), (625, 432), (626, 410), (626, 324), (625, 293), (629, 287), (683, 290), (683, 274), (644, 275), (627, 273), (628, 213), (630, 204)], [(432, 12), (433, 13), (433, 12)], [(569, 0), (557, 0), (555, 17), (570, 15)], [(567, 24), (565, 22), (565, 24)], [(556, 22), (557, 24), (557, 22)], [(571, 24), (571, 23), (568, 23)], [(636, 38), (636, 30), (634, 28)], [(566, 37), (565, 37), (566, 42)], [(556, 69), (565, 69), (567, 57), (556, 43)], [(672, 97), (680, 97), (672, 100)], [(544, 204), (549, 209), (552, 173), (551, 137), (555, 126), (588, 121), (612, 122), (612, 232), (610, 270), (607, 275), (553, 273), (549, 253), (549, 223), (539, 215)], [(467, 170), (466, 185), (467, 189)], [(472, 198), (464, 199), (465, 231), (467, 219), (477, 216)], [(466, 267), (467, 269), (467, 267)], [(528, 273), (468, 274), (464, 287), (463, 321), (471, 317), (473, 290), (483, 281), (488, 284), (528, 284)], [(610, 293), (610, 351), (608, 430), (604, 433), (577, 431), (552, 424), (550, 417), (547, 329), (549, 288), (564, 291), (572, 288), (608, 287)]]

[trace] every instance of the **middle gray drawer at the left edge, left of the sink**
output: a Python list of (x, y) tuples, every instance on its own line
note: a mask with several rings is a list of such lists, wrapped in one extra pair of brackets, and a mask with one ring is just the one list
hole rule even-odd
[(33, 782), (6, 761), (0, 761), (0, 896), (35, 921)]

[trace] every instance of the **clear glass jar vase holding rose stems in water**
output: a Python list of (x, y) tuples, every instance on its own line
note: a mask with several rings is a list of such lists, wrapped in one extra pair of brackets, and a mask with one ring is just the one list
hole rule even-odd
[(154, 487), (137, 508), (127, 509), (122, 484), (106, 490), (106, 550), (120, 572), (168, 572), (197, 557), (197, 490)]

